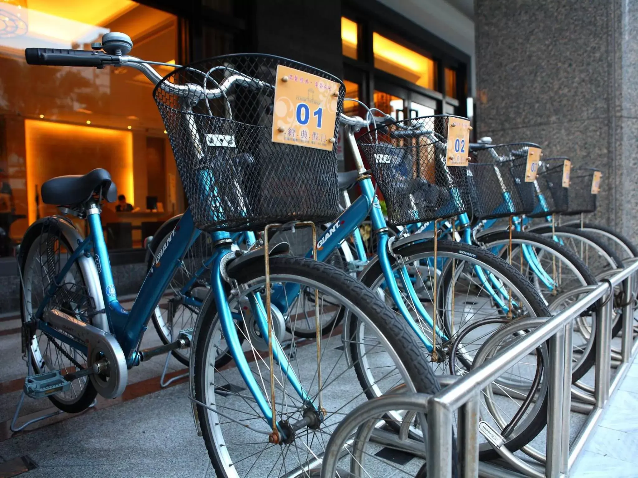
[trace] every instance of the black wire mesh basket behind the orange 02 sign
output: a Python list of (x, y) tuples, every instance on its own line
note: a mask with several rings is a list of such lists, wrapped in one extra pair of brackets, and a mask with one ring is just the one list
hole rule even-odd
[(450, 115), (377, 126), (357, 139), (385, 199), (392, 226), (466, 212), (466, 168), (446, 166)]

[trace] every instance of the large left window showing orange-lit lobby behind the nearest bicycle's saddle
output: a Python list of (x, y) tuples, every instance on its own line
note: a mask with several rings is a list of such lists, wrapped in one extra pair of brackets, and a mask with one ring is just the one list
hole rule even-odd
[(154, 224), (184, 210), (153, 85), (128, 68), (29, 66), (24, 48), (90, 50), (121, 31), (133, 55), (174, 63), (177, 18), (130, 0), (17, 0), (2, 8), (9, 20), (0, 22), (0, 190), (8, 200), (0, 201), (0, 228), (9, 249), (31, 222), (57, 212), (41, 201), (43, 182), (94, 168), (109, 171), (126, 196), (120, 209), (133, 208), (105, 206), (108, 246), (140, 247)]

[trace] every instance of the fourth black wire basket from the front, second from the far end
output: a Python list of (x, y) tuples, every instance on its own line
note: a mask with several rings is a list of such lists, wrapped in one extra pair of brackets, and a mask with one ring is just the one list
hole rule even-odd
[(536, 177), (536, 204), (530, 217), (544, 217), (567, 211), (568, 188), (563, 187), (565, 156), (543, 158)]

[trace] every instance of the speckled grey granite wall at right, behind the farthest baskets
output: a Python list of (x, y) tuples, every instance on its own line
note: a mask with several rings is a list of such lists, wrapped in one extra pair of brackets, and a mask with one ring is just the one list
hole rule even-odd
[(638, 1), (475, 0), (477, 125), (604, 177), (597, 221), (638, 239)]

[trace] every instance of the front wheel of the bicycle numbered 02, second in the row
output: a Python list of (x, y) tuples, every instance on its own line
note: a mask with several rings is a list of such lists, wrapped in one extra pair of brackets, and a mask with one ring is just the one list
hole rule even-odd
[[(396, 257), (390, 257), (402, 300), (413, 321), (430, 342), (434, 342), (433, 324), (422, 316), (419, 308), (424, 308), (432, 319), (435, 316), (434, 303), (437, 305), (438, 358), (433, 362), (437, 375), (468, 373), (482, 345), (508, 322), (525, 317), (549, 316), (540, 294), (520, 272), (500, 257), (475, 245), (449, 240), (440, 240), (437, 249), (436, 267), (433, 241), (420, 240), (396, 247), (393, 252), (396, 257), (401, 257), (401, 263)], [(402, 264), (406, 264), (416, 294), (406, 290), (398, 279)], [(433, 294), (435, 275), (436, 298)], [(397, 310), (385, 285), (386, 280), (378, 261), (373, 262), (362, 277), (364, 284)], [(404, 317), (397, 317), (397, 320), (404, 321)], [(445, 336), (441, 337), (443, 334)], [(427, 345), (421, 344), (421, 347), (424, 355), (429, 355)], [(359, 362), (366, 365), (364, 359)], [(375, 377), (373, 366), (361, 366), (361, 369), (362, 380)], [(537, 375), (540, 379), (535, 380)], [(546, 369), (536, 359), (526, 358), (512, 364), (492, 387), (500, 393), (495, 397), (483, 393), (482, 398), (493, 403), (483, 403), (482, 417), (494, 426), (507, 419), (507, 423), (512, 425), (508, 428), (505, 446), (510, 451), (516, 451), (538, 435), (546, 423)], [(376, 391), (375, 396), (380, 396), (378, 392), (381, 391), (374, 388), (371, 391)], [(533, 396), (531, 405), (526, 404), (526, 396)], [(492, 416), (494, 409), (501, 410), (498, 419)], [(519, 410), (520, 414), (517, 413)], [(486, 440), (480, 442), (479, 453), (486, 460), (497, 456)]]

